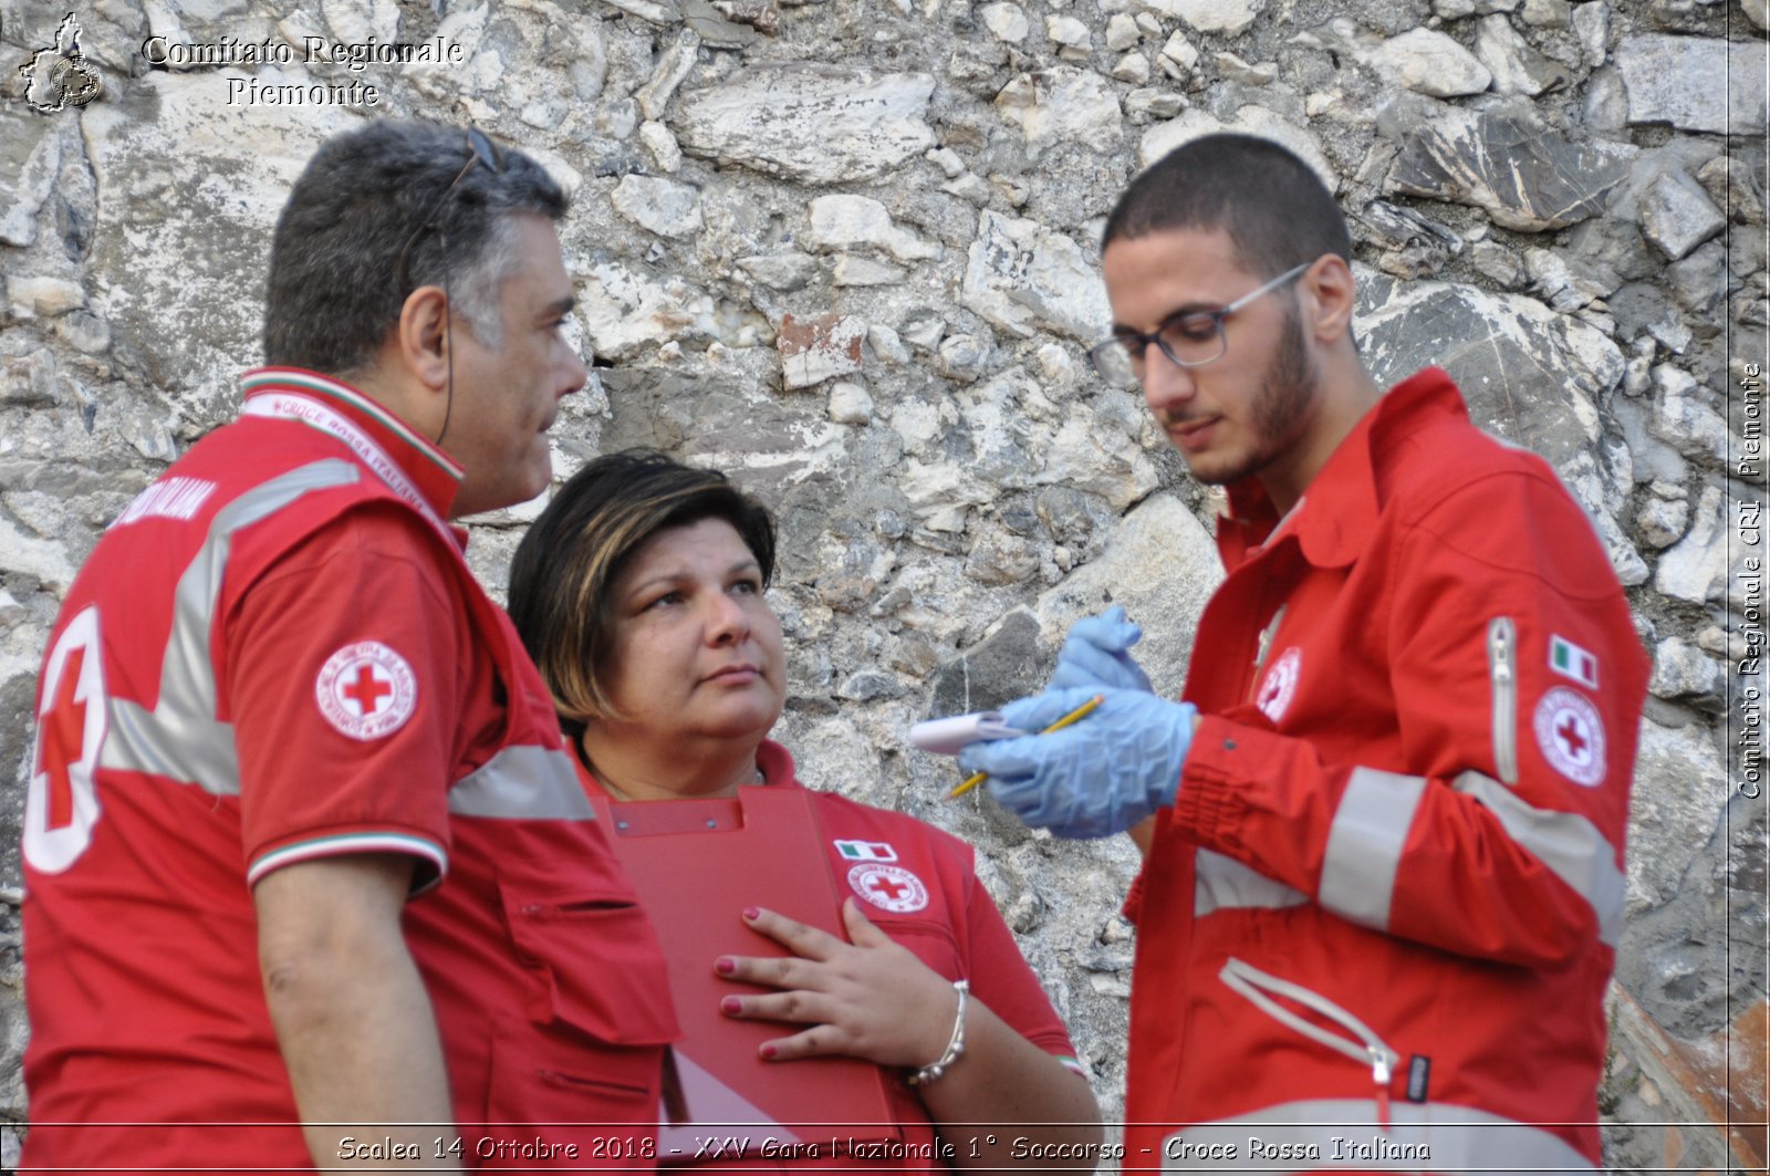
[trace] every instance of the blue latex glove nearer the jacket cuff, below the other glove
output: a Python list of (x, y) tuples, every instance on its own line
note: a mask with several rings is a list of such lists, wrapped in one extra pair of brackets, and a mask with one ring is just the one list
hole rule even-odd
[(1002, 717), (1035, 731), (1096, 694), (1104, 701), (1073, 726), (970, 744), (959, 767), (988, 772), (989, 795), (1028, 825), (1060, 838), (1124, 832), (1174, 804), (1198, 708), (1143, 691), (1080, 687), (1021, 698), (1002, 707)]

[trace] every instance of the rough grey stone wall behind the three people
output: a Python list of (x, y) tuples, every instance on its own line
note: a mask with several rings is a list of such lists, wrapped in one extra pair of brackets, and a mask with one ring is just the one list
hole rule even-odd
[[(1655, 654), (1607, 1146), (1763, 1162), (1761, 1130), (1713, 1123), (1765, 1118), (1765, 0), (80, 4), (103, 94), (39, 113), (19, 66), (67, 9), (0, 0), (0, 1112), (27, 1114), (16, 843), (58, 600), (232, 414), (313, 145), (423, 115), (575, 197), (596, 367), (558, 469), (658, 445), (779, 510), (781, 733), (811, 781), (977, 847), (1119, 1114), (1133, 850), (1032, 834), (982, 792), (942, 804), (950, 762), (903, 735), (1034, 689), (1108, 599), (1179, 687), (1212, 501), (1083, 345), (1115, 193), (1237, 128), (1343, 200), (1377, 374), (1448, 367), (1597, 521)], [(453, 60), (333, 60), (393, 41)], [(313, 83), (343, 101), (273, 101)], [(476, 528), (494, 592), (527, 517)]]

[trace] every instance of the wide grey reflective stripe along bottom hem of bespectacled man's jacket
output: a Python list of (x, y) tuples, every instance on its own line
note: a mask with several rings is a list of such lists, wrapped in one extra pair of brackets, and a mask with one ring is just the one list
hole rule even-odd
[(1593, 1172), (1559, 1135), (1474, 1107), (1404, 1103), (1377, 1125), (1368, 1098), (1322, 1098), (1262, 1107), (1200, 1123), (1161, 1141), (1168, 1172)]

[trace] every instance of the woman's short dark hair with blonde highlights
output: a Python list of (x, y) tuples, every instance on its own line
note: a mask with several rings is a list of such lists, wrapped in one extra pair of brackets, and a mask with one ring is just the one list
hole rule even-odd
[(572, 739), (588, 719), (612, 717), (604, 689), (614, 648), (612, 584), (658, 531), (722, 519), (773, 583), (775, 526), (768, 508), (717, 469), (694, 469), (657, 450), (589, 460), (559, 487), (510, 563), (510, 618)]

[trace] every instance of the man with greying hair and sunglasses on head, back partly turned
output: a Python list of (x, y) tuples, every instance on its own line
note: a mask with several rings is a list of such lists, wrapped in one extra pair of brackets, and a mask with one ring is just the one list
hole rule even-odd
[(547, 487), (565, 211), (418, 122), (296, 181), (271, 367), (51, 636), (25, 1165), (655, 1162), (664, 960), (450, 524)]

